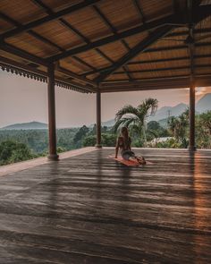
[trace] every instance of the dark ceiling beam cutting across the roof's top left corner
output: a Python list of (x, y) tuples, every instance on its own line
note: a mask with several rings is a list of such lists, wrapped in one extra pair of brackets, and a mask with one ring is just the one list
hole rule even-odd
[(64, 15), (77, 12), (77, 11), (79, 11), (83, 8), (86, 8), (92, 4), (97, 4), (97, 2), (99, 2), (99, 1), (100, 0), (87, 0), (87, 1), (83, 1), (79, 4), (74, 4), (68, 8), (65, 8), (65, 9), (57, 12), (57, 13), (52, 13), (52, 14), (49, 14), (49, 15), (41, 18), (41, 19), (38, 19), (37, 21), (31, 21), (30, 23), (24, 24), (21, 27), (18, 27), (17, 29), (9, 30), (9, 31), (1, 34), (0, 39), (10, 38), (10, 37), (13, 37), (13, 36), (20, 34), (22, 32), (26, 32), (28, 30), (36, 28), (39, 25), (42, 25), (46, 22), (55, 21), (55, 20), (63, 17)]

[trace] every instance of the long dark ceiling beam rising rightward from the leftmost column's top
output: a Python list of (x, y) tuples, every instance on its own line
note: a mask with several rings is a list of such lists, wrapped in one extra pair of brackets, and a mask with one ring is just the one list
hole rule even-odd
[(155, 21), (146, 22), (145, 24), (140, 25), (138, 27), (135, 27), (133, 29), (124, 30), (120, 33), (116, 33), (115, 35), (98, 39), (97, 41), (91, 42), (87, 45), (81, 45), (80, 47), (72, 48), (72, 49), (67, 50), (66, 52), (60, 53), (58, 55), (50, 56), (50, 57), (48, 57), (48, 60), (51, 62), (55, 62), (55, 61), (58, 61), (60, 59), (65, 58), (67, 56), (77, 55), (81, 52), (88, 51), (89, 49), (101, 47), (101, 46), (104, 46), (106, 44), (112, 43), (114, 41), (121, 40), (122, 38), (131, 37), (133, 35), (139, 34), (141, 32), (147, 31), (147, 30), (153, 30), (156, 28), (160, 28), (164, 25), (169, 25), (169, 24), (172, 25), (176, 21), (178, 21), (178, 18), (176, 18), (173, 15), (168, 15), (164, 18), (161, 18), (161, 19), (158, 19)]

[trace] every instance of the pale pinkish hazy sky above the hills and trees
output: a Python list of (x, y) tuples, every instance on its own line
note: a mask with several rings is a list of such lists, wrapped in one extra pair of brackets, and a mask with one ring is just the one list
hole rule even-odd
[[(211, 88), (199, 88), (197, 100)], [(146, 98), (156, 98), (158, 108), (189, 104), (189, 89), (165, 89), (102, 94), (102, 121), (114, 118), (128, 104), (138, 106)], [(96, 123), (96, 95), (55, 87), (56, 125), (75, 127)], [(13, 123), (47, 123), (46, 83), (0, 70), (0, 127)]]

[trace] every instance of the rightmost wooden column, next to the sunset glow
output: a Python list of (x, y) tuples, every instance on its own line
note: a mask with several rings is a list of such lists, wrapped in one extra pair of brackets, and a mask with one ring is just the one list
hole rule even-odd
[(189, 149), (196, 150), (195, 146), (195, 82), (190, 81), (190, 142)]

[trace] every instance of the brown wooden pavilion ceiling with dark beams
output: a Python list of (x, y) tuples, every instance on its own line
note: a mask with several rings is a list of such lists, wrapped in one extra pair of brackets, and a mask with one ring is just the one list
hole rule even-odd
[(46, 81), (55, 64), (65, 88), (180, 88), (190, 75), (211, 84), (207, 0), (1, 0), (0, 25), (3, 69)]

